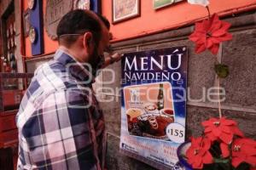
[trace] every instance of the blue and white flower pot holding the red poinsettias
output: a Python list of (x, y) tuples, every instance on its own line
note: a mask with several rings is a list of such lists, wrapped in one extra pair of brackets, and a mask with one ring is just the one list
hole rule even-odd
[(183, 157), (186, 155), (186, 151), (189, 149), (189, 146), (191, 145), (191, 142), (184, 142), (177, 148), (177, 158), (179, 161), (179, 164), (181, 164), (185, 170), (193, 170), (193, 168), (189, 165), (187, 160)]

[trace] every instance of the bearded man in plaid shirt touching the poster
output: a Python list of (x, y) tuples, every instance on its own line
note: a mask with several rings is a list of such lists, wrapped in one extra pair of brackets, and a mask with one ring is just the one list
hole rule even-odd
[[(17, 167), (103, 169), (105, 125), (91, 83), (104, 65), (108, 28), (96, 14), (77, 9), (63, 16), (57, 36), (54, 59), (35, 71), (20, 104)], [(107, 65), (119, 59), (113, 55)]]

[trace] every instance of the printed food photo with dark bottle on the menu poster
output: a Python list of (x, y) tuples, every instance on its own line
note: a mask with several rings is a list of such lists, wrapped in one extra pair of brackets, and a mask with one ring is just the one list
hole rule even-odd
[(131, 135), (167, 140), (166, 127), (175, 121), (170, 82), (125, 87), (127, 130)]

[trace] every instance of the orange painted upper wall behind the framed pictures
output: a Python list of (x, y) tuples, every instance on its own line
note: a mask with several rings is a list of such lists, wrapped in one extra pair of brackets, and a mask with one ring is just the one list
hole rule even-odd
[[(46, 0), (43, 1), (45, 14)], [(27, 8), (27, 1), (23, 1), (23, 8)], [(236, 14), (242, 10), (255, 9), (256, 0), (210, 0), (209, 8), (212, 14)], [(108, 20), (112, 20), (112, 0), (102, 0), (102, 14)], [(190, 5), (186, 0), (158, 10), (154, 10), (153, 0), (141, 0), (141, 16), (111, 26), (113, 42), (144, 36), (154, 32), (171, 30), (205, 17), (207, 17), (206, 8), (199, 5)], [(26, 56), (29, 57), (32, 54), (28, 38), (26, 38), (25, 46)], [(53, 53), (57, 46), (57, 42), (52, 41), (48, 37), (44, 28), (44, 53)]]

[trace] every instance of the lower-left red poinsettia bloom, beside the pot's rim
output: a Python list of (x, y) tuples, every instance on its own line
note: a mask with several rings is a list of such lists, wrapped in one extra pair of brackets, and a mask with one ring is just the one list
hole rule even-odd
[(204, 164), (212, 163), (212, 155), (209, 152), (211, 141), (206, 138), (191, 138), (191, 146), (186, 151), (189, 164), (193, 168), (201, 169)]

